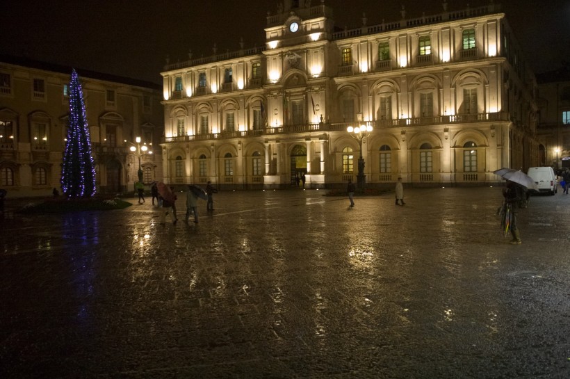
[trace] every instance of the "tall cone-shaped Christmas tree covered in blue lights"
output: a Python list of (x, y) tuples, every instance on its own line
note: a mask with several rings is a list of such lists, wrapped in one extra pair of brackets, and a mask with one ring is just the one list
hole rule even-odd
[(95, 195), (95, 163), (91, 155), (83, 89), (75, 70), (72, 72), (69, 96), (70, 118), (63, 154), (61, 188), (68, 198), (91, 197)]

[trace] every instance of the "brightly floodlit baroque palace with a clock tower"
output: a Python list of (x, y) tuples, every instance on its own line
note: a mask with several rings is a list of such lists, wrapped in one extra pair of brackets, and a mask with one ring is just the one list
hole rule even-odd
[(324, 1), (285, 1), (264, 47), (167, 63), (165, 182), (335, 188), (360, 156), (367, 187), (492, 184), (498, 168), (536, 166), (537, 84), (500, 9), (444, 0), (339, 30)]

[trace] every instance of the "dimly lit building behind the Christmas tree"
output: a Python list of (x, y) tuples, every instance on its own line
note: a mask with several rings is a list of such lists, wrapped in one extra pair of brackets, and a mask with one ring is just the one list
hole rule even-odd
[[(72, 67), (0, 56), (0, 188), (11, 197), (60, 191)], [(77, 70), (83, 88), (97, 192), (133, 191), (138, 158), (143, 181), (162, 179), (161, 86)], [(155, 154), (138, 155), (130, 147)], [(156, 146), (153, 148), (153, 146)]]

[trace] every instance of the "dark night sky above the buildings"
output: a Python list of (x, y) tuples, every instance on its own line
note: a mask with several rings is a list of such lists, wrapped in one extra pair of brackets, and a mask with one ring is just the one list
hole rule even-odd
[[(313, 4), (320, 0), (312, 0)], [(336, 26), (368, 25), (441, 13), (443, 0), (325, 0)], [(272, 0), (2, 0), (0, 54), (26, 56), (108, 74), (162, 83), (165, 57), (184, 61), (265, 42)], [(489, 0), (448, 0), (450, 10)], [(554, 70), (570, 51), (570, 0), (495, 0), (503, 4), (523, 54), (535, 72)], [(206, 5), (200, 5), (206, 4)]]

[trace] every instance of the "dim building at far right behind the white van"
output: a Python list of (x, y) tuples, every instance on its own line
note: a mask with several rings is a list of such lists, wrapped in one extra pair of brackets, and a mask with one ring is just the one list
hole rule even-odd
[(570, 168), (570, 63), (537, 75), (539, 166)]

